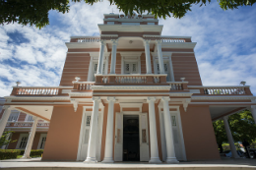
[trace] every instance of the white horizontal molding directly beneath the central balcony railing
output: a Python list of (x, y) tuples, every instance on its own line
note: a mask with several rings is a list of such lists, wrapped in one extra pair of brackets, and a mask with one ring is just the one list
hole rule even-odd
[(138, 86), (132, 86), (132, 85), (109, 85), (109, 86), (103, 86), (103, 85), (93, 85), (92, 89), (94, 90), (169, 90), (169, 85), (138, 85)]

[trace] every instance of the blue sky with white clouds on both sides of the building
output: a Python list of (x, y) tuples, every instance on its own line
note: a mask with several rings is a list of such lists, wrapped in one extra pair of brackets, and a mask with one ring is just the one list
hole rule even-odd
[[(0, 26), (0, 96), (23, 86), (59, 85), (71, 35), (98, 35), (97, 24), (115, 6), (71, 5), (68, 14), (49, 13), (46, 28)], [(239, 85), (245, 81), (256, 93), (256, 6), (223, 11), (217, 2), (192, 7), (182, 19), (160, 19), (162, 35), (192, 36), (203, 85)]]

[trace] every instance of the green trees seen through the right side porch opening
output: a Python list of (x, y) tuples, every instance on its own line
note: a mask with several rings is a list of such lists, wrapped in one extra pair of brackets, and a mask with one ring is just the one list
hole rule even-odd
[[(228, 124), (234, 142), (242, 142), (243, 139), (247, 139), (248, 142), (252, 143), (256, 140), (256, 125), (249, 110), (245, 110), (229, 116)], [(219, 145), (220, 151), (222, 152), (222, 144), (224, 142), (228, 142), (224, 131), (224, 121), (218, 120), (213, 123), (213, 126), (215, 130), (216, 141)]]

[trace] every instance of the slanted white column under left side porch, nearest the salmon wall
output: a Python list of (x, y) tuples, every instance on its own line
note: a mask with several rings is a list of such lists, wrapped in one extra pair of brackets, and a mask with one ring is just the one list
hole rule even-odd
[(33, 117), (33, 123), (32, 123), (32, 129), (31, 129), (30, 137), (29, 137), (29, 140), (27, 142), (26, 149), (24, 151), (24, 155), (23, 155), (22, 158), (31, 158), (30, 154), (31, 154), (31, 150), (32, 150), (32, 142), (33, 142), (33, 139), (34, 139), (37, 122), (38, 122), (38, 117)]

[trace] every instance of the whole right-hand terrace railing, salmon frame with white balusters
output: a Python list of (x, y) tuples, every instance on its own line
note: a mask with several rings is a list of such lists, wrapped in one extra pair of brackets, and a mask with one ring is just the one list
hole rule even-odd
[(191, 85), (189, 89), (199, 89), (200, 94), (208, 95), (251, 95), (249, 86), (194, 86)]

